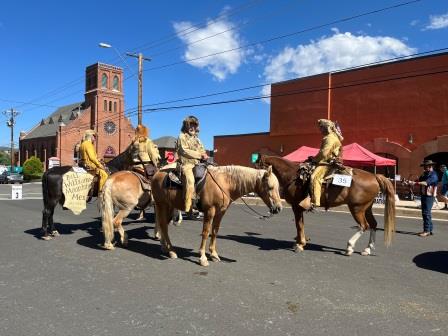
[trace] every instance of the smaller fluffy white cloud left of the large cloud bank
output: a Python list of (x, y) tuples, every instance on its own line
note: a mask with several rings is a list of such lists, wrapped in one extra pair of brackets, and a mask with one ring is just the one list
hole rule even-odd
[[(208, 21), (207, 25), (200, 29), (194, 28), (191, 22), (174, 23), (177, 36), (186, 44), (184, 59), (194, 67), (207, 69), (219, 81), (226, 79), (228, 75), (235, 74), (249, 52), (238, 49), (195, 61), (188, 60), (239, 48), (242, 44), (241, 38), (232, 28), (233, 24), (225, 18), (219, 21)], [(192, 32), (188, 34), (182, 33), (185, 30), (192, 30)], [(194, 43), (210, 36), (213, 37)]]

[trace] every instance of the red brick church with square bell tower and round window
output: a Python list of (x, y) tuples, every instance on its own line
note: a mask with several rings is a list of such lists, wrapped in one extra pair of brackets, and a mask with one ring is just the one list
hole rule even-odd
[(98, 158), (108, 161), (130, 143), (134, 129), (124, 116), (123, 70), (96, 63), (86, 68), (84, 102), (62, 106), (33, 127), (20, 134), (20, 162), (37, 156), (45, 167), (48, 158), (58, 157), (61, 165), (72, 165), (76, 145), (87, 129), (97, 134)]

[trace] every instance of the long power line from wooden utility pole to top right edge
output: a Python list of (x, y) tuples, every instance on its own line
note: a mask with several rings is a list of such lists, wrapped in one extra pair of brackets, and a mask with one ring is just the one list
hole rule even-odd
[(199, 57), (195, 57), (195, 58), (189, 58), (189, 59), (186, 59), (186, 60), (183, 60), (183, 61), (173, 62), (173, 63), (169, 63), (169, 64), (165, 64), (165, 65), (160, 65), (160, 66), (157, 66), (157, 67), (152, 67), (152, 68), (146, 69), (145, 71), (153, 71), (153, 70), (165, 69), (165, 68), (173, 67), (173, 66), (176, 66), (176, 65), (189, 63), (189, 62), (192, 62), (192, 61), (197, 61), (197, 60), (201, 60), (201, 59), (208, 58), (208, 57), (222, 55), (222, 54), (225, 54), (225, 53), (237, 51), (237, 50), (248, 48), (248, 47), (253, 47), (255, 45), (270, 43), (270, 42), (281, 40), (281, 39), (285, 39), (285, 38), (288, 38), (288, 37), (291, 37), (291, 36), (295, 36), (295, 35), (303, 34), (303, 33), (306, 33), (306, 32), (310, 32), (310, 31), (313, 31), (313, 30), (316, 30), (316, 29), (332, 26), (332, 25), (337, 24), (337, 23), (342, 23), (342, 22), (358, 19), (360, 17), (364, 17), (364, 16), (368, 16), (368, 15), (372, 15), (372, 14), (388, 11), (388, 10), (395, 9), (395, 8), (398, 8), (398, 7), (402, 7), (402, 6), (407, 6), (407, 5), (414, 4), (414, 3), (417, 3), (417, 2), (420, 2), (420, 1), (423, 1), (423, 0), (412, 0), (412, 1), (408, 1), (408, 2), (399, 3), (399, 4), (396, 4), (396, 5), (393, 5), (393, 6), (384, 7), (384, 8), (373, 10), (373, 11), (370, 11), (370, 12), (365, 12), (365, 13), (361, 13), (361, 14), (358, 14), (358, 15), (345, 17), (345, 18), (338, 19), (338, 20), (335, 20), (335, 21), (332, 21), (332, 22), (329, 22), (329, 23), (324, 23), (324, 24), (313, 26), (313, 27), (306, 28), (306, 29), (303, 29), (303, 30), (295, 31), (295, 32), (292, 32), (292, 33), (289, 33), (289, 34), (284, 34), (284, 35), (280, 35), (280, 36), (274, 36), (274, 37), (266, 39), (266, 40), (261, 40), (261, 41), (258, 41), (258, 42), (248, 43), (248, 44), (245, 44), (243, 46), (236, 47), (236, 48), (227, 49), (227, 50), (223, 50), (223, 51), (219, 51), (219, 52), (215, 52), (215, 53), (212, 53), (212, 54), (203, 55), (203, 56), (199, 56)]

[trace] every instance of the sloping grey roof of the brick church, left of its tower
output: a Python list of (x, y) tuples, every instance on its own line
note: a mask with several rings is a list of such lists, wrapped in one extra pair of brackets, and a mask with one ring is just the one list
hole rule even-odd
[(68, 125), (72, 120), (79, 118), (84, 112), (83, 103), (74, 103), (59, 107), (47, 118), (42, 119), (34, 126), (22, 139), (36, 139), (55, 136), (59, 130), (59, 123), (62, 121)]

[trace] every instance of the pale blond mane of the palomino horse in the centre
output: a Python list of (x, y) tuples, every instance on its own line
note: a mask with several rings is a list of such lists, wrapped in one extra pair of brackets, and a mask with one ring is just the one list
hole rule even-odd
[(227, 177), (229, 184), (234, 187), (234, 190), (245, 195), (254, 190), (257, 182), (266, 173), (264, 169), (255, 169), (244, 166), (219, 166), (209, 167), (212, 172), (223, 174)]

